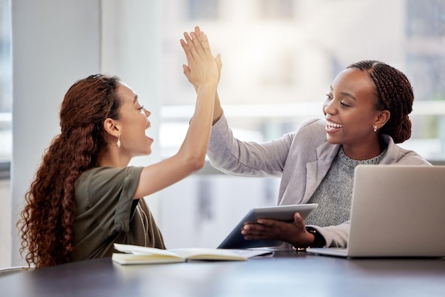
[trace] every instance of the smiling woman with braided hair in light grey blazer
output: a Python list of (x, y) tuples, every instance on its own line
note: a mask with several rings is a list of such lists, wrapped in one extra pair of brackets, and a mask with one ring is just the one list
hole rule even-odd
[(346, 247), (353, 173), (358, 164), (431, 165), (397, 144), (411, 136), (414, 94), (407, 77), (390, 65), (365, 60), (340, 72), (326, 94), (324, 119), (262, 144), (232, 136), (215, 96), (208, 157), (227, 174), (279, 177), (278, 205), (318, 203), (294, 222), (258, 220), (245, 239), (280, 239), (286, 247)]

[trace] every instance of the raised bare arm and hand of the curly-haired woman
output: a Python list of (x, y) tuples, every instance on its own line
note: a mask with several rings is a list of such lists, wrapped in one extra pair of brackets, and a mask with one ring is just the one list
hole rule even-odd
[(218, 87), (220, 55), (213, 57), (207, 36), (195, 27), (195, 31), (184, 33), (181, 40), (186, 52), (184, 72), (196, 86), (195, 112), (189, 122), (186, 137), (178, 153), (142, 169), (134, 198), (156, 193), (173, 183), (186, 178), (205, 164), (208, 142), (215, 117), (215, 97)]

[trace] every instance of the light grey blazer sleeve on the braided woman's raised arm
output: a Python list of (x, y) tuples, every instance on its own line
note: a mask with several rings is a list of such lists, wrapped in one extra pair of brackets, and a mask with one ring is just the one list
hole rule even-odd
[(213, 167), (231, 175), (279, 177), (291, 146), (291, 135), (258, 144), (236, 139), (223, 114), (213, 125), (207, 155)]

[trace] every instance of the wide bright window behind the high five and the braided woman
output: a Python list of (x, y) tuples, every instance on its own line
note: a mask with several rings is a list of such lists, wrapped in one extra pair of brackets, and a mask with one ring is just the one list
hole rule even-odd
[[(194, 103), (193, 88), (178, 70), (185, 63), (183, 53), (171, 46), (177, 48), (178, 32), (200, 25), (213, 51), (222, 54), (220, 97), (232, 128), (240, 133), (272, 139), (298, 129), (306, 119), (321, 117), (324, 95), (338, 72), (358, 60), (382, 60), (407, 74), (414, 86), (412, 139), (402, 146), (430, 160), (445, 158), (444, 1), (262, 0), (198, 5), (193, 0), (168, 0), (163, 4), (165, 9), (178, 9), (170, 13), (174, 18), (163, 20), (168, 28), (163, 68), (166, 126), (186, 125)], [(205, 21), (197, 23), (204, 15), (198, 11), (214, 12), (204, 13)]]

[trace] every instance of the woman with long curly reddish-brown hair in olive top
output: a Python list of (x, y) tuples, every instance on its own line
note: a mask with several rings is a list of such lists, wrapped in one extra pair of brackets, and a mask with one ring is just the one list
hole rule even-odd
[(110, 257), (115, 242), (165, 249), (141, 198), (203, 167), (221, 67), (198, 28), (184, 36), (184, 72), (198, 86), (195, 112), (178, 153), (159, 163), (129, 166), (134, 156), (150, 154), (153, 143), (145, 134), (151, 113), (131, 87), (107, 75), (70, 87), (61, 132), (45, 151), (18, 222), (29, 265)]

